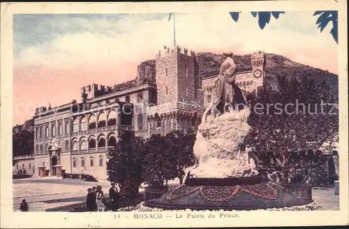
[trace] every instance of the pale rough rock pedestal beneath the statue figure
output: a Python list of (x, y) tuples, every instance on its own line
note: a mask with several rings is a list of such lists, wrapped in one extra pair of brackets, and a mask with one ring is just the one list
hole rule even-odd
[(249, 168), (248, 157), (240, 151), (240, 145), (250, 130), (246, 116), (248, 109), (224, 113), (198, 127), (193, 148), (198, 167), (191, 171), (193, 177), (244, 176), (244, 171)]

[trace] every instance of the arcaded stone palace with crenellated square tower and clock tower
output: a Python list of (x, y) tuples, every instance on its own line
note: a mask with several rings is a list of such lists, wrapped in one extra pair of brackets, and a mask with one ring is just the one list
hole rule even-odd
[[(251, 54), (251, 63), (243, 71), (238, 68), (236, 84), (243, 91), (257, 91), (264, 66), (264, 52)], [(13, 171), (26, 168), (36, 177), (89, 174), (105, 180), (108, 148), (117, 145), (122, 132), (147, 138), (198, 127), (218, 73), (205, 71), (205, 63), (198, 63), (188, 49), (164, 47), (155, 61), (138, 66), (132, 81), (83, 86), (80, 102), (36, 109), (34, 155), (17, 157)]]

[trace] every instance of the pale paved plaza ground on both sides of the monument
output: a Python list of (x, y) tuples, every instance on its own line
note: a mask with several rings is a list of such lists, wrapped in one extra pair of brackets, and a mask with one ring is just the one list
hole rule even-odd
[[(87, 189), (97, 185), (103, 187), (105, 194), (108, 193), (109, 182), (84, 182), (56, 177), (13, 180), (13, 210), (19, 209), (24, 198), (31, 212), (80, 203), (86, 200)], [(334, 195), (333, 188), (313, 188), (313, 200), (320, 206), (318, 210), (339, 210), (339, 196)]]

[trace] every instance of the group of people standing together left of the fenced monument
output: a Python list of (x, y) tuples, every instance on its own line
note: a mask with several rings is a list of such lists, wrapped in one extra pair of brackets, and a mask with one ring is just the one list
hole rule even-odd
[[(111, 210), (116, 212), (119, 208), (120, 195), (115, 182), (111, 182), (112, 187), (109, 189), (109, 197), (111, 200)], [(106, 210), (106, 198), (104, 196), (101, 185), (87, 189), (86, 207), (88, 212), (104, 212)]]

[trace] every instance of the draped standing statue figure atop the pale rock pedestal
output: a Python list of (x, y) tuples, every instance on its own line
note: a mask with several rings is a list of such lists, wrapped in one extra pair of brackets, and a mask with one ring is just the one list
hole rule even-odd
[(202, 122), (206, 123), (207, 113), (211, 111), (211, 116), (216, 118), (221, 114), (232, 111), (232, 102), (234, 102), (234, 89), (236, 76), (236, 65), (232, 59), (232, 53), (223, 54), (225, 61), (221, 65), (219, 75), (214, 81), (214, 101), (207, 108), (202, 116)]

